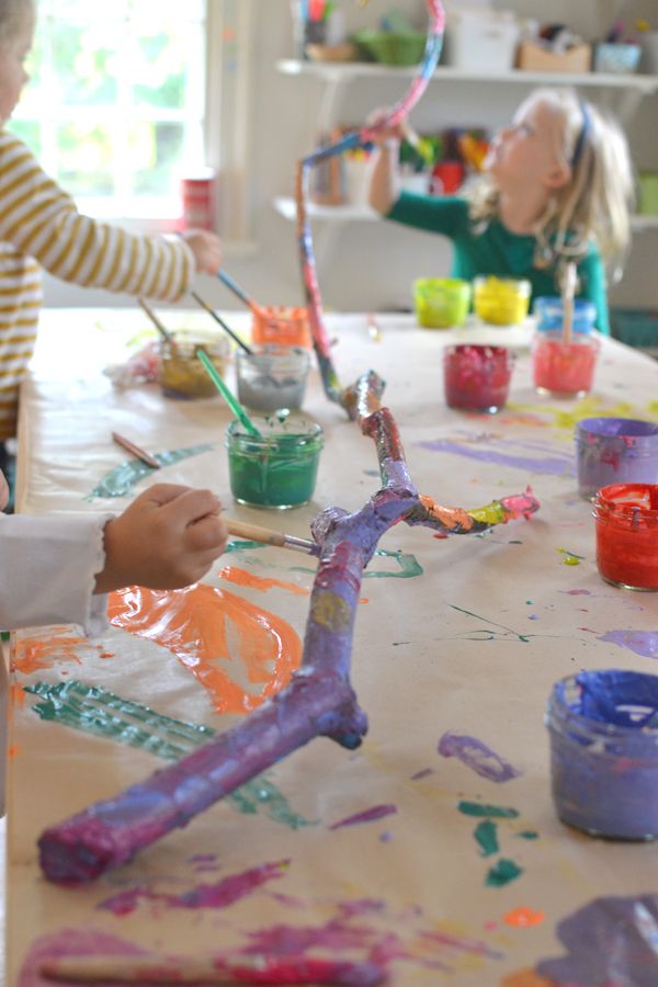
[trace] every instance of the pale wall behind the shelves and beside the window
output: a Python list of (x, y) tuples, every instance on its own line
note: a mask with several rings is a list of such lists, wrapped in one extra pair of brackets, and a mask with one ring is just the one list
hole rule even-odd
[[(654, 2), (654, 0), (651, 0)], [(349, 26), (373, 24), (393, 5), (392, 0), (371, 0), (362, 9), (355, 0), (341, 0)], [(422, 0), (396, 0), (416, 23), (424, 23)], [(523, 14), (546, 16), (544, 0), (511, 0)], [(560, 16), (591, 34), (597, 31), (597, 12), (603, 11), (602, 24), (609, 25), (623, 4), (617, 0), (553, 0), (551, 20)], [(627, 8), (638, 15), (642, 4)], [(637, 8), (635, 13), (634, 8)], [(292, 194), (296, 159), (315, 146), (315, 124), (322, 87), (313, 79), (283, 76), (275, 69), (280, 58), (293, 56), (291, 4), (288, 0), (259, 0), (259, 24), (253, 39), (253, 192), (251, 211), (254, 250), (246, 257), (227, 257), (226, 268), (256, 298), (263, 303), (298, 304), (302, 300), (298, 254), (294, 224), (277, 215), (272, 207), (275, 195)], [(567, 18), (569, 11), (569, 18)], [(646, 11), (645, 11), (646, 13)], [(341, 122), (361, 123), (374, 107), (394, 102), (407, 80), (354, 84), (343, 104)], [(432, 82), (415, 111), (413, 123), (441, 126), (462, 122), (490, 124), (509, 118), (522, 98), (514, 84), (483, 88), (481, 84)], [(458, 110), (457, 110), (458, 106)], [(658, 134), (655, 127), (658, 99), (640, 104), (635, 125), (634, 147), (643, 167), (658, 170)], [(647, 126), (647, 121), (653, 121)], [(446, 272), (449, 245), (436, 236), (406, 230), (393, 224), (352, 223), (341, 227), (315, 224), (315, 242), (319, 283), (325, 305), (340, 310), (388, 309), (410, 305), (410, 285), (415, 277)], [(627, 274), (613, 288), (616, 304), (658, 306), (658, 279), (653, 253), (658, 234), (643, 232), (633, 246)], [(131, 305), (125, 296), (106, 292), (75, 288), (47, 282), (47, 303), (52, 305)], [(203, 279), (200, 292), (222, 308), (236, 307), (230, 294), (214, 279)]]

